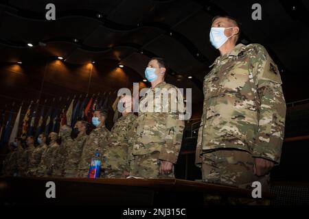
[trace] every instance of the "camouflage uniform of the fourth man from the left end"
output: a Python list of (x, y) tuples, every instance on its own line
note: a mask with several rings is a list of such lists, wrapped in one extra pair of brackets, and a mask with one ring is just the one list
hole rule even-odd
[(52, 174), (51, 162), (56, 155), (56, 150), (58, 149), (58, 146), (59, 144), (57, 142), (54, 142), (52, 144), (49, 144), (49, 146), (47, 146), (46, 151), (42, 155), (41, 162), (38, 165), (38, 170), (36, 172), (36, 175), (38, 177), (47, 177)]

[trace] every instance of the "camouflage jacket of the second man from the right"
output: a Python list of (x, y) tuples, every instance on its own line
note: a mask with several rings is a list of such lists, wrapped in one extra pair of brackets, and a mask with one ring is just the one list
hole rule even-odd
[[(176, 90), (178, 95), (164, 99), (171, 90)], [(172, 105), (177, 106), (176, 110), (171, 110)], [(159, 151), (159, 159), (176, 164), (184, 128), (184, 121), (179, 120), (180, 112), (183, 114), (183, 96), (178, 88), (164, 81), (150, 88), (139, 101), (133, 155)]]

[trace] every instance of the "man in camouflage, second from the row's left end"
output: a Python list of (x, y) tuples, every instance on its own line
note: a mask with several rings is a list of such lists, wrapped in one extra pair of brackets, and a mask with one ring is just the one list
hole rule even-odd
[(36, 149), (34, 147), (33, 136), (27, 136), (25, 143), (26, 143), (26, 148), (24, 149), (23, 155), (21, 155), (21, 159), (18, 163), (19, 174), (22, 177), (25, 177), (27, 175), (27, 171), (28, 171), (28, 168), (30, 166), (30, 157), (31, 157), (34, 149)]

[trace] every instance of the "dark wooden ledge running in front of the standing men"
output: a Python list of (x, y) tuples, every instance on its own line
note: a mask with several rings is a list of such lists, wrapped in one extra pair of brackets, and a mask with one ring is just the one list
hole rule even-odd
[[(14, 183), (12, 183), (14, 181)], [(69, 183), (87, 184), (104, 186), (113, 186), (114, 188), (141, 188), (154, 191), (169, 191), (169, 192), (190, 192), (196, 194), (214, 194), (219, 196), (231, 196), (252, 198), (252, 190), (244, 190), (236, 187), (216, 185), (211, 183), (203, 183), (196, 181), (187, 181), (183, 179), (87, 179), (87, 178), (60, 178), (60, 177), (0, 177), (0, 192), (5, 188), (11, 188), (12, 185), (27, 185), (28, 187), (35, 183), (47, 183), (53, 181), (56, 185)], [(268, 192), (262, 192), (262, 198), (274, 198)]]

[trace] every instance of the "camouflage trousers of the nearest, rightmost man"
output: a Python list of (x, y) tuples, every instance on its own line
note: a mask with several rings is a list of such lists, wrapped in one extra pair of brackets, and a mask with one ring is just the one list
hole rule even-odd
[[(259, 181), (262, 192), (269, 192), (269, 175), (253, 174), (254, 158), (247, 151), (218, 150), (203, 154), (202, 176), (205, 183), (236, 186), (253, 190), (253, 181)], [(267, 200), (254, 201), (249, 198), (227, 198), (206, 194), (205, 204), (220, 205), (269, 205)]]

